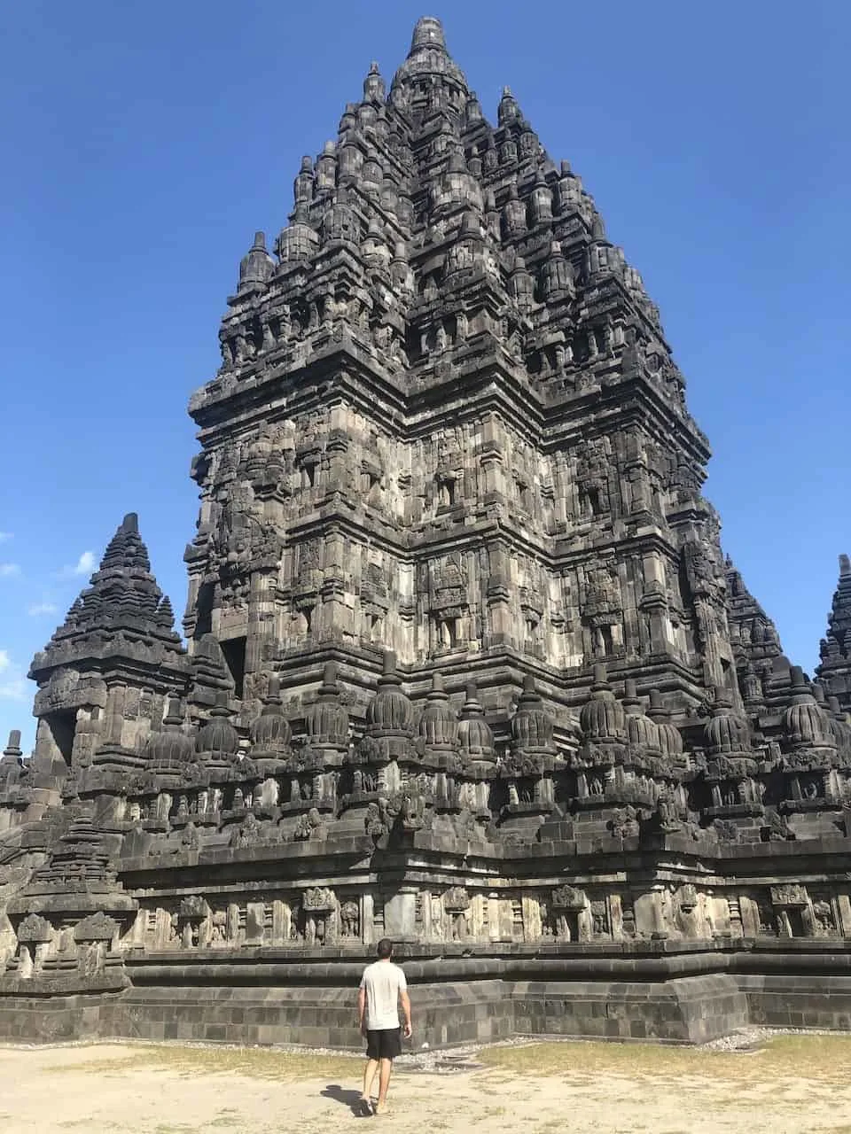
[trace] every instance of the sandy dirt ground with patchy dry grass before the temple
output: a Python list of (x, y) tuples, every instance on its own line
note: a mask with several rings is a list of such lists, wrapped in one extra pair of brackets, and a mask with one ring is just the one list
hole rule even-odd
[(370, 1122), (399, 1134), (470, 1134), (473, 1124), (482, 1134), (851, 1134), (845, 1036), (783, 1035), (744, 1052), (529, 1043), (454, 1063), (420, 1056), (398, 1065), (391, 1114), (380, 1118), (353, 1112), (362, 1066), (349, 1056), (268, 1049), (2, 1048), (0, 1128), (337, 1134)]

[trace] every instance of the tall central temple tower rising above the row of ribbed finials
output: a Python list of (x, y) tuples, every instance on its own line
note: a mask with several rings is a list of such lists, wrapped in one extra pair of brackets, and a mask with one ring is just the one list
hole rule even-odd
[(576, 704), (600, 662), (680, 712), (739, 703), (706, 438), (640, 276), (508, 88), (494, 126), (420, 20), (294, 196), (191, 404), (184, 625), (250, 709), (271, 668), (297, 696), (329, 659), (362, 697), (384, 650), (492, 710), (525, 675)]

